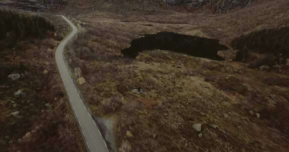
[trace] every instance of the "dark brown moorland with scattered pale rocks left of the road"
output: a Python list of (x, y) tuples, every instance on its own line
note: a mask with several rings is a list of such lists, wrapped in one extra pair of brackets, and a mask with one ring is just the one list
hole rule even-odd
[[(21, 26), (10, 26), (9, 32), (27, 37), (19, 35), (14, 39), (16, 47), (0, 51), (0, 151), (84, 151), (55, 63), (54, 49), (69, 32), (67, 25), (62, 18), (50, 14), (26, 15), (23, 19), (18, 10), (6, 13), (20, 17), (11, 22)], [(6, 17), (1, 17), (0, 22), (11, 23), (3, 19), (13, 17)], [(19, 31), (24, 27), (46, 30), (48, 18), (57, 34), (34, 35), (34, 29)], [(18, 76), (14, 80), (11, 74)]]

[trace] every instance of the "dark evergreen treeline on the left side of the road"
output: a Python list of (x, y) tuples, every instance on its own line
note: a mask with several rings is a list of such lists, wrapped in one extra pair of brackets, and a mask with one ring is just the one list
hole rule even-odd
[(54, 26), (44, 17), (0, 9), (0, 47), (13, 47), (27, 38), (42, 38)]

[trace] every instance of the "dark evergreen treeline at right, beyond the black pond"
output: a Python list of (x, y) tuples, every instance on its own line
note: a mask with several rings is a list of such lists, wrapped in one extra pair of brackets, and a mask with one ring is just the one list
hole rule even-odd
[(232, 40), (237, 49), (248, 49), (275, 56), (289, 56), (289, 27), (270, 28), (240, 35)]

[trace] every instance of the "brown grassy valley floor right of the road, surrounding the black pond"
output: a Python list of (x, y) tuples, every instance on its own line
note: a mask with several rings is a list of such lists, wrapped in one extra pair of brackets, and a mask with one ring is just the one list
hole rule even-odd
[(120, 53), (159, 31), (230, 45), (242, 33), (286, 25), (287, 1), (224, 14), (74, 2), (60, 11), (82, 30), (67, 60), (95, 116), (117, 120), (118, 151), (288, 151), (288, 66), (251, 69), (167, 50), (135, 59)]

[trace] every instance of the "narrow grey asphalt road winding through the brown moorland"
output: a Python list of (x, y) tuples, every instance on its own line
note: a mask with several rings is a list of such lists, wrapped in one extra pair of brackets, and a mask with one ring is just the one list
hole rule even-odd
[(77, 27), (65, 16), (60, 15), (72, 27), (72, 32), (58, 45), (56, 49), (56, 63), (65, 85), (66, 92), (75, 116), (78, 120), (82, 135), (90, 152), (109, 152), (106, 143), (88, 109), (83, 103), (68, 67), (64, 61), (63, 50), (67, 42), (78, 32)]

